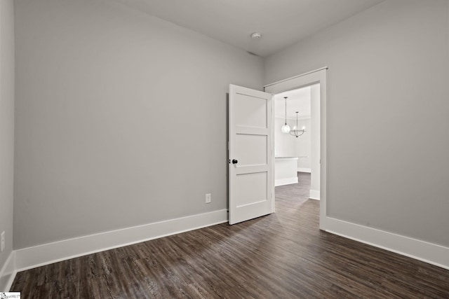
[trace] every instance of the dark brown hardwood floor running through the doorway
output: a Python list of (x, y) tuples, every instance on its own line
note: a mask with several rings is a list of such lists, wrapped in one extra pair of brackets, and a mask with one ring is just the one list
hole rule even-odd
[(449, 298), (449, 271), (319, 230), (310, 177), (276, 213), (19, 272), (22, 298)]

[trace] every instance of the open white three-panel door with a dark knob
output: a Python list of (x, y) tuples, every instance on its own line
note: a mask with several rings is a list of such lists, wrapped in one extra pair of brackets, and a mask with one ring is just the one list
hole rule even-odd
[(229, 224), (274, 212), (272, 95), (229, 85)]

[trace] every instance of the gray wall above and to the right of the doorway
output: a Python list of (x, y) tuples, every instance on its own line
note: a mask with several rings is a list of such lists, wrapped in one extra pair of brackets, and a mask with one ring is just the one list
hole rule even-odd
[(328, 216), (449, 246), (447, 0), (385, 1), (268, 57), (328, 66)]

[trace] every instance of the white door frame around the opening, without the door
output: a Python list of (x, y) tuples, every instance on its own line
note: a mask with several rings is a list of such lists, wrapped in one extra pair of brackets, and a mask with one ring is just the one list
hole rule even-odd
[(305, 86), (320, 83), (320, 125), (321, 125), (321, 175), (320, 175), (320, 229), (326, 230), (326, 203), (327, 203), (327, 98), (326, 98), (326, 70), (328, 67), (309, 71), (299, 76), (287, 78), (268, 85), (264, 85), (264, 91), (272, 95), (289, 90), (303, 88)]

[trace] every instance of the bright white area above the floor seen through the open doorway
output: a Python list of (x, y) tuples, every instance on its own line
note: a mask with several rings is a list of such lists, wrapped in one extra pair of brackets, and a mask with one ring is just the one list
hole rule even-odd
[[(319, 83), (273, 95), (275, 192), (320, 199)], [(283, 130), (288, 127), (288, 130)], [(285, 187), (281, 187), (285, 186)]]

